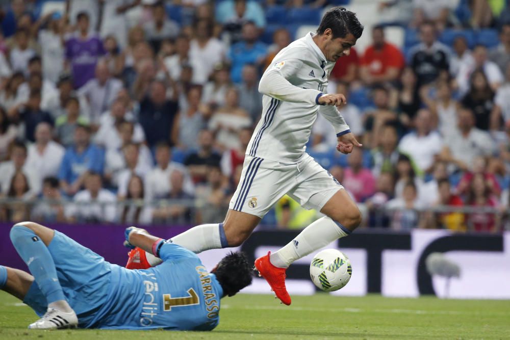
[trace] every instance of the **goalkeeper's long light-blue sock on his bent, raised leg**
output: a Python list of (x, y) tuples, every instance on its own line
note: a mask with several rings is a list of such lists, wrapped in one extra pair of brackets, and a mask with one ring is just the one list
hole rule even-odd
[(29, 267), (46, 302), (49, 304), (65, 300), (52, 254), (36, 233), (30, 228), (17, 224), (12, 227), (9, 236), (19, 256)]

